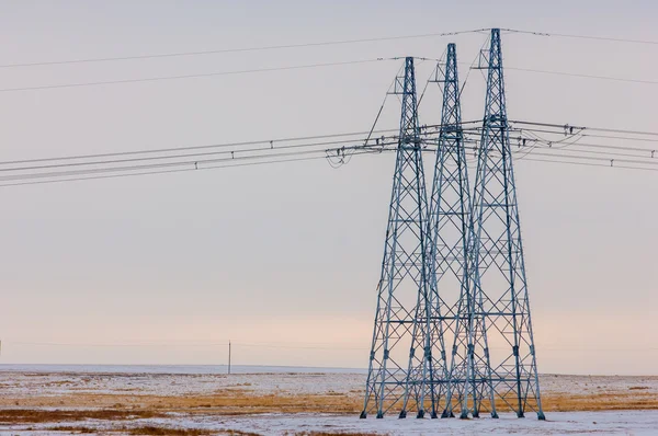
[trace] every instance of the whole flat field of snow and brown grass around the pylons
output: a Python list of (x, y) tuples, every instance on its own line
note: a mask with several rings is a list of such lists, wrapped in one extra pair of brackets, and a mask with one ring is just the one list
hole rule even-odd
[(658, 434), (658, 377), (543, 375), (546, 422), (359, 420), (364, 374), (0, 371), (0, 434)]

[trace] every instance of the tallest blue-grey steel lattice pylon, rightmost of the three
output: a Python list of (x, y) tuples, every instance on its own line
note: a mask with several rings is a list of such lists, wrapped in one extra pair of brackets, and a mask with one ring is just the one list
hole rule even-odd
[(487, 96), (473, 196), (473, 341), (467, 346), (478, 353), (474, 359), (489, 363), (489, 375), (470, 372), (466, 385), (491, 386), (488, 404), (481, 401), (486, 388), (479, 398), (474, 397), (472, 413), (476, 416), (484, 408), (497, 417), (497, 410), (503, 406), (519, 417), (532, 410), (544, 420), (512, 169), (500, 30), (491, 30), (490, 48), (484, 55)]

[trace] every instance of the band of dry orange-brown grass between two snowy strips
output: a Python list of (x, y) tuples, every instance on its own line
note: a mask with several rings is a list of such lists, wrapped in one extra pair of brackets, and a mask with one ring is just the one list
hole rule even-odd
[[(511, 401), (511, 400), (510, 400)], [(548, 392), (542, 395), (546, 412), (658, 410), (658, 393), (646, 389), (619, 389), (612, 392), (571, 394)], [(24, 409), (16, 409), (16, 403)], [(260, 413), (359, 414), (361, 394), (256, 394), (224, 390), (212, 395), (132, 395), (72, 393), (61, 397), (1, 398), (0, 423), (58, 423), (87, 418), (125, 421), (163, 417), (170, 412), (203, 415), (249, 415)], [(483, 404), (487, 410), (487, 404)], [(503, 404), (497, 404), (506, 412)], [(4, 408), (4, 409), (3, 409)], [(44, 410), (44, 408), (60, 408)], [(65, 409), (66, 408), (66, 409)], [(392, 411), (389, 414), (395, 414)], [(315, 435), (314, 435), (315, 436)]]

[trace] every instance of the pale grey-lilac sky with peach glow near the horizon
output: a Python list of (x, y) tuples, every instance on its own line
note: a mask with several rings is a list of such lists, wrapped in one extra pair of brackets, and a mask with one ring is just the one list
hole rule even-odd
[[(491, 26), (658, 41), (651, 1), (248, 4), (1, 1), (0, 65)], [(502, 38), (507, 67), (640, 80), (658, 67), (657, 45)], [(0, 89), (435, 58), (450, 42), (470, 62), (485, 39), (0, 68)], [(399, 65), (0, 92), (1, 160), (367, 130)], [(419, 62), (419, 88), (431, 68)], [(658, 130), (655, 84), (514, 70), (506, 84), (510, 118)], [(465, 119), (481, 117), (484, 88), (474, 71)], [(421, 123), (439, 122), (439, 97)], [(0, 363), (220, 364), (231, 339), (235, 364), (365, 367), (393, 168), (368, 156), (0, 188)], [(515, 171), (540, 372), (655, 375), (658, 173)]]

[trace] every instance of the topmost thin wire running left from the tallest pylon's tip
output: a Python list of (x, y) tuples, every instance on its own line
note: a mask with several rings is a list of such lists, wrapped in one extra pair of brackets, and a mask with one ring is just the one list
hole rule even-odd
[(426, 34), (418, 34), (418, 35), (383, 36), (383, 37), (360, 38), (360, 39), (326, 41), (326, 42), (319, 42), (319, 43), (283, 44), (283, 45), (270, 45), (270, 46), (260, 46), (260, 47), (223, 48), (223, 49), (214, 49), (214, 50), (179, 51), (179, 53), (164, 53), (164, 54), (152, 54), (152, 55), (136, 55), (136, 56), (120, 56), (120, 57), (104, 57), (104, 58), (84, 58), (84, 59), (68, 59), (68, 60), (36, 61), (36, 62), (21, 62), (21, 64), (4, 64), (4, 65), (0, 65), (0, 68), (42, 67), (42, 66), (69, 65), (69, 64), (107, 62), (107, 61), (116, 61), (116, 60), (138, 60), (138, 59), (183, 57), (183, 56), (219, 55), (219, 54), (228, 54), (228, 53), (264, 51), (264, 50), (279, 50), (279, 49), (284, 49), (284, 48), (321, 47), (321, 46), (331, 46), (331, 45), (374, 43), (374, 42), (382, 42), (382, 41), (417, 39), (417, 38), (440, 37), (440, 36), (455, 36), (455, 35), (462, 35), (462, 34), (467, 34), (467, 33), (480, 33), (480, 32), (486, 32), (489, 30), (490, 28), (477, 28), (477, 30), (472, 30), (472, 31), (426, 33)]

